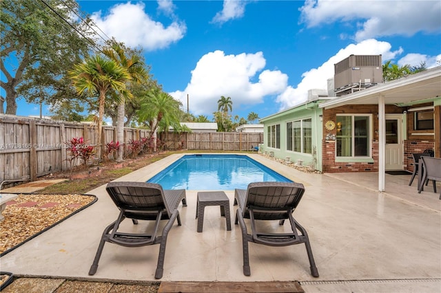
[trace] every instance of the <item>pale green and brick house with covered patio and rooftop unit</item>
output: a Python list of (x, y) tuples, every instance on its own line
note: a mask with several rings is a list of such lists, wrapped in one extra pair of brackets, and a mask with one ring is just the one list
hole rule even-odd
[(411, 153), (431, 149), (440, 158), (441, 67), (380, 83), (379, 59), (349, 56), (340, 72), (342, 64), (335, 65), (335, 97), (318, 96), (261, 119), (261, 149), (322, 172), (378, 172), (380, 191), (384, 171), (413, 170)]

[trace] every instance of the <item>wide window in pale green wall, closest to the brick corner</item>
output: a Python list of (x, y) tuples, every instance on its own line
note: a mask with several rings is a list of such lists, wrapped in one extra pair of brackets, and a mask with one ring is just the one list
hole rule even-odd
[(312, 120), (287, 122), (287, 150), (312, 153)]

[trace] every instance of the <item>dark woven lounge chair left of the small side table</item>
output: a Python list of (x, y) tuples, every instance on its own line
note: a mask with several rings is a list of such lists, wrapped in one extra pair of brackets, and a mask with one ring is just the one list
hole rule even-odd
[[(105, 189), (120, 213), (116, 221), (105, 228), (89, 274), (95, 274), (106, 241), (126, 247), (159, 243), (161, 246), (154, 277), (161, 279), (168, 232), (175, 219), (178, 219), (178, 226), (181, 226), (181, 218), (177, 209), (179, 203), (182, 201), (183, 206), (187, 206), (185, 189), (163, 190), (159, 184), (145, 182), (110, 182)], [(119, 225), (125, 218), (132, 219), (133, 224), (138, 224), (138, 220), (153, 220), (155, 221), (154, 229), (151, 234), (119, 232)], [(161, 235), (156, 235), (159, 223), (163, 219), (168, 219), (168, 222)]]

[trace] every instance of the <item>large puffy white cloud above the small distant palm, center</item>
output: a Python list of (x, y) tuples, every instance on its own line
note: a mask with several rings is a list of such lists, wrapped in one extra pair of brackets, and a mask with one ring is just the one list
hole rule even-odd
[[(264, 96), (280, 94), (287, 87), (288, 76), (278, 70), (263, 70), (265, 63), (262, 52), (238, 55), (209, 52), (192, 70), (187, 87), (170, 95), (186, 109), (188, 94), (190, 112), (196, 116), (211, 116), (218, 110), (220, 96), (232, 98), (233, 111), (241, 105), (255, 105), (263, 102)], [(253, 83), (256, 77), (258, 81)]]

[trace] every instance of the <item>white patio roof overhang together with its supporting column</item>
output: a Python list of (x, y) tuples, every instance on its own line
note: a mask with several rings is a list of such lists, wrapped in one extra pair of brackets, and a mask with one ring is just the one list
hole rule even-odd
[[(441, 66), (411, 74), (353, 94), (322, 102), (318, 107), (331, 109), (344, 105), (378, 105), (378, 191), (384, 191), (386, 118), (385, 105), (410, 106), (441, 102)], [(436, 136), (435, 136), (436, 137)]]

